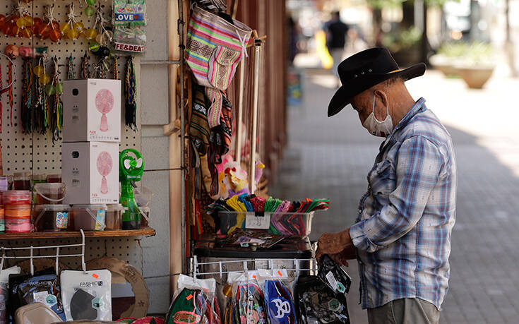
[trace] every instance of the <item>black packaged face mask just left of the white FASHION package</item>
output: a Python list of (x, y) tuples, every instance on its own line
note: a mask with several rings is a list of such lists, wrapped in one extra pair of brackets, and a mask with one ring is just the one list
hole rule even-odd
[(21, 306), (40, 302), (49, 307), (65, 320), (61, 295), (59, 293), (58, 277), (54, 268), (48, 268), (31, 275), (9, 275), (9, 316)]

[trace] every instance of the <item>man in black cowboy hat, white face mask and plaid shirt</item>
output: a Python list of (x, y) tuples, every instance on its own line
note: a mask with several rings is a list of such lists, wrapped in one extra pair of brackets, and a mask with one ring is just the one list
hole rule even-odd
[(369, 323), (439, 323), (448, 290), (456, 164), (448, 131), (405, 87), (424, 71), (398, 68), (385, 48), (367, 49), (338, 66), (342, 86), (328, 106), (333, 116), (351, 104), (369, 133), (386, 138), (357, 221), (323, 234), (316, 253), (342, 265), (357, 258)]

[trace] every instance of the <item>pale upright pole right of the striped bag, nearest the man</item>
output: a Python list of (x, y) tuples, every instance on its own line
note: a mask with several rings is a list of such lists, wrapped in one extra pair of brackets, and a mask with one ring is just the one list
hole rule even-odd
[(254, 193), (254, 178), (256, 178), (256, 136), (258, 133), (258, 95), (259, 95), (259, 62), (261, 52), (261, 40), (258, 38), (256, 31), (254, 38), (254, 93), (253, 107), (251, 115), (251, 158), (249, 171), (249, 189)]

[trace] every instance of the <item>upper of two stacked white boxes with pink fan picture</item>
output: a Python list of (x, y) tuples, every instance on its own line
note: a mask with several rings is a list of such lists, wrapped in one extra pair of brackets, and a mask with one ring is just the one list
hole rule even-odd
[(63, 141), (121, 140), (121, 80), (63, 82)]

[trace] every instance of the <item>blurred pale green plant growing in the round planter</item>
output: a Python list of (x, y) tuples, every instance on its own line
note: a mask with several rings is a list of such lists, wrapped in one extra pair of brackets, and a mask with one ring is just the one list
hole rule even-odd
[(485, 42), (448, 42), (440, 47), (438, 54), (477, 64), (491, 61), (494, 51)]

